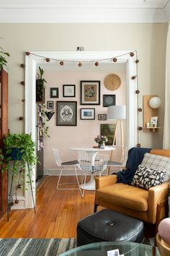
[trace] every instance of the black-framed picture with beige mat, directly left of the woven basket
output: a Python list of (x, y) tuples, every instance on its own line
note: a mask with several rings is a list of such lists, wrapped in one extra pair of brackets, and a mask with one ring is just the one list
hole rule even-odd
[(81, 105), (100, 105), (100, 81), (81, 81)]

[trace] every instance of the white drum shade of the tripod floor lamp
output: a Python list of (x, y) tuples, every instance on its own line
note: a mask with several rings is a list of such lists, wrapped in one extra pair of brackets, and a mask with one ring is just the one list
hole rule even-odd
[(107, 107), (107, 120), (126, 119), (126, 106), (109, 106)]

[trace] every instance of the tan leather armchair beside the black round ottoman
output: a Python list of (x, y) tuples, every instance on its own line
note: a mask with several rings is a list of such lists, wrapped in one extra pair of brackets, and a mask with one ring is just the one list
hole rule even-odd
[[(151, 154), (170, 158), (170, 150), (151, 150)], [(97, 206), (109, 208), (148, 223), (157, 224), (167, 215), (167, 195), (170, 182), (150, 189), (116, 183), (117, 175), (97, 177), (94, 212)]]

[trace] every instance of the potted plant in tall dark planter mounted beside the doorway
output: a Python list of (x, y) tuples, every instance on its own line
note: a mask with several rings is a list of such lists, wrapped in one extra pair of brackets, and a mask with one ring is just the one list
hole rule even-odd
[(36, 80), (36, 103), (45, 103), (45, 82), (43, 78), (44, 70), (39, 67), (39, 73), (37, 72)]

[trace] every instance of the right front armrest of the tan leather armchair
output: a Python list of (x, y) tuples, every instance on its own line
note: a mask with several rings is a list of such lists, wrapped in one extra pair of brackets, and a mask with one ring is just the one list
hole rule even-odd
[(156, 187), (148, 189), (148, 221), (156, 222), (157, 205), (168, 199), (168, 186), (170, 182), (165, 182)]

